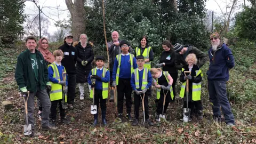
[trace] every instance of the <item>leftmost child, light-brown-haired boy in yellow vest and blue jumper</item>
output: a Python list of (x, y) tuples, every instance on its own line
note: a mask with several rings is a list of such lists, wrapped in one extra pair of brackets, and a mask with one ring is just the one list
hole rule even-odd
[[(49, 81), (52, 85), (52, 90), (50, 91), (50, 100), (52, 103), (51, 106), (51, 121), (50, 126), (55, 127), (56, 124), (56, 113), (57, 106), (59, 103), (60, 108), (60, 123), (61, 124), (70, 124), (70, 122), (65, 117), (65, 109), (62, 108), (61, 100), (62, 100), (62, 92), (67, 94), (68, 90), (68, 81), (66, 77), (66, 81), (63, 81), (62, 73), (66, 73), (65, 67), (63, 67), (60, 61), (63, 59), (63, 52), (61, 50), (55, 50), (53, 52), (55, 61), (48, 66), (48, 76)], [(62, 87), (65, 86), (65, 90), (62, 90)]]

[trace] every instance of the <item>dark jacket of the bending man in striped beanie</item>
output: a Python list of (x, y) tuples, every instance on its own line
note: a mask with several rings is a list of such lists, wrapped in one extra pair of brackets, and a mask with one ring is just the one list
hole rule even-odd
[[(196, 58), (198, 60), (197, 66), (199, 68), (201, 68), (206, 61), (208, 61), (207, 54), (198, 50), (193, 45), (188, 45), (188, 53), (187, 54), (190, 54), (190, 53), (194, 53), (196, 55)], [(183, 55), (180, 55), (179, 53), (177, 53), (177, 55), (175, 55), (175, 68), (181, 70), (182, 67), (185, 65), (187, 65), (185, 58), (183, 57)]]

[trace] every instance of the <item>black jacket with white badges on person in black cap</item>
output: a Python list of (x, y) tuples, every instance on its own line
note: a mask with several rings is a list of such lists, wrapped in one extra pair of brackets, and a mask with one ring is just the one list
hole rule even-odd
[(75, 47), (65, 43), (59, 47), (59, 50), (64, 53), (61, 65), (66, 68), (67, 74), (76, 74), (77, 50)]

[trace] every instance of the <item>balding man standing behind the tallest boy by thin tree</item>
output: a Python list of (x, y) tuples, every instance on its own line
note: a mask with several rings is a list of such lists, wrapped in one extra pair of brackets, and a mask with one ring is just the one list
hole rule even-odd
[[(111, 33), (112, 41), (108, 42), (108, 53), (109, 53), (109, 72), (110, 72), (110, 86), (112, 86), (113, 78), (113, 66), (116, 59), (116, 55), (121, 53), (121, 47), (119, 46), (119, 43), (121, 40), (119, 39), (119, 34), (117, 31), (113, 31)], [(129, 48), (129, 53), (133, 53), (132, 47)], [(114, 101), (114, 87), (111, 87), (110, 90), (110, 100)]]

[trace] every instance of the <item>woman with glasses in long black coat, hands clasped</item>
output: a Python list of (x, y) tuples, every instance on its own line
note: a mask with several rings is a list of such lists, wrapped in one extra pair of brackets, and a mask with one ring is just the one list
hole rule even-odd
[[(80, 100), (84, 99), (84, 84), (92, 69), (91, 62), (94, 59), (94, 53), (91, 43), (87, 43), (87, 35), (80, 36), (80, 42), (76, 45), (77, 63), (76, 63), (76, 83), (78, 83), (80, 91)], [(89, 87), (90, 89), (90, 87)], [(90, 93), (90, 90), (89, 90)]]

